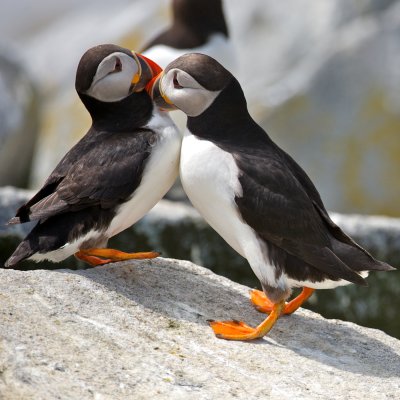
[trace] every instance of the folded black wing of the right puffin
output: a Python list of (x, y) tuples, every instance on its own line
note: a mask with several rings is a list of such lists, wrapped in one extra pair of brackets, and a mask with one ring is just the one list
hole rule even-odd
[(325, 208), (319, 194), (286, 153), (273, 143), (264, 143), (256, 149), (239, 149), (234, 155), (243, 189), (236, 203), (261, 238), (329, 276), (365, 284), (333, 251), (331, 234), (321, 218)]

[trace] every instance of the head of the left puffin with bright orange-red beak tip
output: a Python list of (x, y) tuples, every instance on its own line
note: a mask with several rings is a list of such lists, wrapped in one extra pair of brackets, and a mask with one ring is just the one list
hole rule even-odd
[(76, 72), (75, 88), (103, 103), (118, 102), (142, 91), (161, 68), (139, 53), (113, 44), (87, 50)]

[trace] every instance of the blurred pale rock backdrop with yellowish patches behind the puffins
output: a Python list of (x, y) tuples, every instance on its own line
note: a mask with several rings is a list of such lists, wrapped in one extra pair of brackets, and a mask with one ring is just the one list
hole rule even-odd
[[(226, 0), (253, 116), (305, 168), (327, 207), (400, 215), (400, 4), (394, 0)], [(39, 186), (89, 119), (74, 90), (83, 52), (140, 49), (169, 0), (3, 1), (0, 37), (34, 77), (42, 120)]]

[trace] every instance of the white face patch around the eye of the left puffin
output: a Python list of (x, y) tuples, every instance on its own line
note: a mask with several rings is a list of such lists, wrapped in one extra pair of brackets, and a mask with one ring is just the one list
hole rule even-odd
[(114, 102), (130, 94), (132, 79), (139, 73), (137, 62), (127, 54), (115, 52), (97, 67), (87, 94), (97, 100)]

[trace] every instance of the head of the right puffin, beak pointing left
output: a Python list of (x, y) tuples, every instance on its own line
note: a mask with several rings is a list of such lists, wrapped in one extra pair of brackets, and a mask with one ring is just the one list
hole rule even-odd
[(179, 109), (189, 117), (197, 117), (232, 79), (233, 75), (212, 57), (188, 53), (154, 77), (146, 90), (159, 108)]

